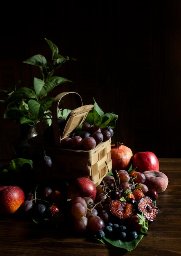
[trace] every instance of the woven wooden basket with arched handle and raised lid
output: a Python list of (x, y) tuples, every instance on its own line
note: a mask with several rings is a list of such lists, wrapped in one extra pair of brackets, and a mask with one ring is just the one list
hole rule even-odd
[[(60, 136), (58, 126), (58, 106), (67, 94), (73, 94), (81, 105), (72, 110), (67, 118), (63, 135)], [(74, 136), (75, 129), (83, 124), (85, 118), (94, 105), (83, 106), (80, 95), (76, 92), (63, 92), (55, 97), (52, 104), (52, 126), (55, 144), (47, 144), (40, 134), (29, 139), (30, 150), (38, 154), (42, 149), (51, 156), (51, 171), (44, 170), (38, 161), (34, 161), (35, 177), (38, 180), (73, 180), (76, 177), (87, 177), (98, 186), (103, 177), (112, 170), (111, 139), (98, 144), (92, 150), (73, 150), (61, 148), (61, 140)]]

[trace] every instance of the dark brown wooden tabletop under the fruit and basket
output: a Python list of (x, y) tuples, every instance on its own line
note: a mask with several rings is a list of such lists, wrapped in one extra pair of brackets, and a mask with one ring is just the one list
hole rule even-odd
[(0, 256), (177, 256), (181, 255), (181, 159), (159, 159), (160, 171), (169, 178), (166, 191), (159, 194), (159, 214), (131, 252), (106, 246), (60, 230), (48, 230), (20, 218), (0, 220)]

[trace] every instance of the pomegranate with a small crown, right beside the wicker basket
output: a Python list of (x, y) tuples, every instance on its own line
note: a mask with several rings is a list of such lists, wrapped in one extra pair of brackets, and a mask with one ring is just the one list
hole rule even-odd
[(133, 159), (132, 150), (122, 142), (116, 142), (116, 144), (111, 145), (111, 159), (113, 171), (128, 171)]

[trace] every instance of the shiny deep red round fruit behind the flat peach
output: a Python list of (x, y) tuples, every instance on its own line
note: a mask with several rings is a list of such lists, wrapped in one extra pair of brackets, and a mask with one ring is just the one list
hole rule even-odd
[(150, 151), (137, 152), (132, 160), (132, 168), (143, 173), (144, 171), (159, 171), (160, 165), (156, 155)]

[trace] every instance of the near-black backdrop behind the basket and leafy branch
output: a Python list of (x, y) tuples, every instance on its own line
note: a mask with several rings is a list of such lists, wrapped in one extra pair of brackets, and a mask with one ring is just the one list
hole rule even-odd
[[(84, 104), (94, 97), (118, 115), (113, 143), (181, 157), (180, 0), (37, 0), (8, 2), (1, 12), (0, 88), (19, 79), (31, 87), (39, 70), (22, 61), (51, 58), (47, 38), (78, 59), (58, 73), (74, 83), (51, 96), (75, 91)], [(3, 112), (0, 105), (0, 158), (11, 159), (19, 130)]]

